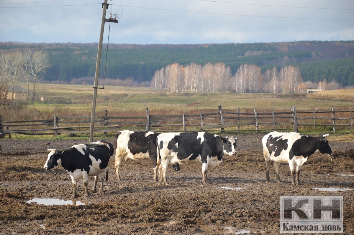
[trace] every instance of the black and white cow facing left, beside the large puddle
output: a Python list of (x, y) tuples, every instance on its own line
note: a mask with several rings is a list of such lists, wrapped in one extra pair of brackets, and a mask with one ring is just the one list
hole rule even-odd
[(48, 159), (44, 165), (45, 170), (50, 170), (55, 166), (62, 166), (70, 175), (73, 182), (73, 195), (76, 198), (76, 180), (84, 178), (85, 196), (89, 196), (87, 181), (89, 176), (95, 176), (93, 192), (96, 192), (98, 175), (101, 175), (101, 187), (99, 193), (103, 193), (103, 180), (108, 170), (109, 158), (113, 155), (113, 145), (100, 140), (90, 144), (74, 145), (71, 148), (58, 151), (57, 149), (47, 149)]

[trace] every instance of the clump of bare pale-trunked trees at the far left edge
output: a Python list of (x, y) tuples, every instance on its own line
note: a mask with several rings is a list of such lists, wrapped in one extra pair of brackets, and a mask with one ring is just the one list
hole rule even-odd
[(31, 102), (34, 102), (36, 84), (49, 67), (49, 55), (45, 51), (23, 49), (10, 53), (0, 53), (0, 98), (7, 98), (11, 94), (14, 99), (15, 86), (18, 82), (27, 84), (27, 101), (29, 101), (29, 87), (33, 85)]

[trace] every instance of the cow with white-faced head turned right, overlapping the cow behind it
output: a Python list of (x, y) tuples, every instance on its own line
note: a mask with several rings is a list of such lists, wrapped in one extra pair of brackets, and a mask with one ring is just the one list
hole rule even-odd
[(224, 154), (236, 155), (236, 140), (234, 137), (223, 138), (207, 132), (158, 135), (156, 142), (158, 156), (161, 157), (161, 164), (158, 165), (164, 183), (168, 185), (166, 181), (168, 166), (176, 163), (180, 165), (201, 163), (202, 182), (208, 183), (208, 168), (220, 163)]

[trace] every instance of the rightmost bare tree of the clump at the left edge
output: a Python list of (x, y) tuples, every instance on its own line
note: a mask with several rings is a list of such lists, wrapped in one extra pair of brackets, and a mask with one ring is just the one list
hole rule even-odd
[(44, 52), (44, 51), (35, 51), (32, 55), (32, 59), (30, 62), (30, 71), (33, 76), (32, 103), (34, 102), (34, 92), (36, 89), (36, 83), (38, 80), (38, 76), (40, 73), (45, 72), (47, 67), (49, 67), (48, 53)]

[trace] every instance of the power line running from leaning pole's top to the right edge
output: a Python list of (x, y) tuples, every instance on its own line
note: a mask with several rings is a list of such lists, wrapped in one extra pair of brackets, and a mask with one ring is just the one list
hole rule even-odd
[[(114, 4), (112, 4), (112, 5), (114, 5)], [(116, 6), (118, 6), (118, 5), (116, 5)], [(201, 11), (184, 11), (184, 10), (173, 10), (173, 9), (154, 8), (154, 7), (131, 6), (131, 5), (129, 5), (129, 6), (128, 5), (120, 5), (120, 6), (143, 8), (143, 9), (150, 9), (150, 10), (175, 11), (175, 12), (200, 13), (200, 14), (215, 14), (215, 15), (223, 15), (223, 16), (247, 16), (247, 17), (282, 18), (282, 19), (354, 20), (354, 19), (303, 18), (303, 17), (285, 17), (285, 16), (257, 16), (257, 15), (228, 14), (228, 13), (201, 12)]]

